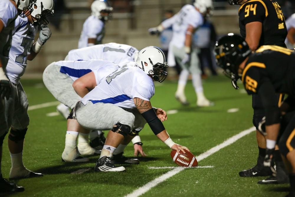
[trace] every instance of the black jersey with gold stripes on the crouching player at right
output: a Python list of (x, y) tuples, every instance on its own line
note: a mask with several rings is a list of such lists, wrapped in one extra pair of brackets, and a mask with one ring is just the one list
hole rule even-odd
[(295, 53), (292, 50), (264, 45), (251, 54), (242, 74), (248, 94), (258, 94), (264, 83), (275, 93), (295, 96)]

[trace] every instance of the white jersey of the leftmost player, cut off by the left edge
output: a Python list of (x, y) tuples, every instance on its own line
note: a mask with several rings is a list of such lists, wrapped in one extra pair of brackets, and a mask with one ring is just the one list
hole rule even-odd
[(12, 31), (14, 28), (14, 20), (17, 18), (17, 8), (9, 0), (0, 1), (0, 20), (4, 24), (4, 28), (0, 32), (0, 61), (5, 71), (9, 50), (12, 41)]

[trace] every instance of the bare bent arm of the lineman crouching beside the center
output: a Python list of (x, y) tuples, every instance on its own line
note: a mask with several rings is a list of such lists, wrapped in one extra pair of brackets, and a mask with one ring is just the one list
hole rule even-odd
[(94, 72), (81, 76), (73, 83), (73, 88), (80, 97), (84, 97), (96, 86)]

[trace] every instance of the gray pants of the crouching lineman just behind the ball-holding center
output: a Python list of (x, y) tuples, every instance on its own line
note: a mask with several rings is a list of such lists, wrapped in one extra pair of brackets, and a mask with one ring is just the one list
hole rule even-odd
[(80, 96), (73, 88), (73, 79), (61, 73), (60, 68), (55, 62), (47, 66), (43, 72), (43, 82), (56, 100), (73, 109)]

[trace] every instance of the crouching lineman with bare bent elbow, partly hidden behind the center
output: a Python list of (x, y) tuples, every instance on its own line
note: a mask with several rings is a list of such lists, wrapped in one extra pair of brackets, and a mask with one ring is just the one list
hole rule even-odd
[[(111, 61), (104, 60), (58, 61), (47, 66), (43, 73), (43, 82), (58, 101), (73, 109), (77, 100), (80, 99), (73, 86), (79, 86), (86, 95), (89, 90), (105, 79), (109, 73), (116, 71), (118, 68), (119, 66)], [(89, 76), (87, 78), (88, 85), (82, 87), (84, 75)], [(80, 154), (91, 155), (100, 153), (100, 151), (95, 152), (96, 150), (88, 144), (89, 130), (82, 128), (71, 116), (68, 118), (67, 125), (65, 149), (62, 154), (63, 161), (87, 162), (89, 158), (83, 158)], [(80, 134), (77, 149), (78, 133)]]

